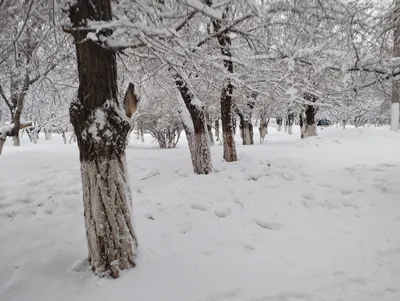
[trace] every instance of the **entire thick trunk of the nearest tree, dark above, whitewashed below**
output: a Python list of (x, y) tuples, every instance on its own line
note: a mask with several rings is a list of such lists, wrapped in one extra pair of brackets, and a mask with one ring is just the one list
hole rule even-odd
[[(69, 9), (73, 27), (110, 21), (110, 0), (78, 0)], [(129, 119), (117, 100), (115, 53), (72, 30), (78, 62), (78, 97), (70, 120), (78, 140), (89, 263), (96, 274), (119, 277), (135, 265), (136, 235), (125, 160)], [(107, 34), (107, 33), (105, 33)]]

